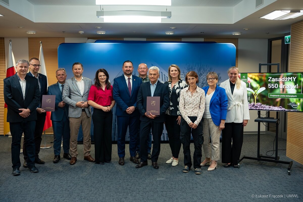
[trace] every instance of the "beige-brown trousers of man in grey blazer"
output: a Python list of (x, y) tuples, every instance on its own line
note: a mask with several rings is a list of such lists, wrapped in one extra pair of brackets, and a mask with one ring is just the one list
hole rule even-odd
[(91, 152), (91, 117), (88, 117), (85, 111), (82, 111), (82, 114), (79, 118), (69, 118), (69, 127), (71, 129), (71, 138), (69, 141), (69, 148), (71, 150), (72, 157), (77, 157), (77, 146), (78, 146), (78, 132), (80, 125), (82, 124), (83, 131), (83, 147), (84, 147), (84, 156), (90, 155)]

